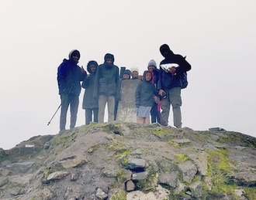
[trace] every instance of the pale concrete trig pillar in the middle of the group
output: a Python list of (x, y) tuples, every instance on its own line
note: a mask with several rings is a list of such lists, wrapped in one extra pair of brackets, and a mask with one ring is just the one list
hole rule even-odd
[(121, 98), (117, 109), (116, 120), (122, 122), (137, 122), (135, 92), (141, 80), (122, 80)]

